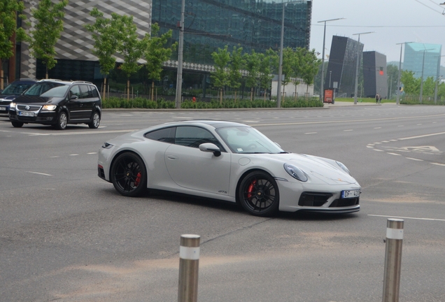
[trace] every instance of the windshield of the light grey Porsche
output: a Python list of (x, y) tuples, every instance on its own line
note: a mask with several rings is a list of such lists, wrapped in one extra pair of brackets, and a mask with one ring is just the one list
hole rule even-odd
[(264, 134), (252, 127), (216, 129), (234, 153), (283, 153), (284, 151)]

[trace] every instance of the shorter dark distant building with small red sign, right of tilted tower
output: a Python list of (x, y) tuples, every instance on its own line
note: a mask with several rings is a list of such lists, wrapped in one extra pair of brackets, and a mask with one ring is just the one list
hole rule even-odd
[[(388, 75), (386, 74), (386, 55), (379, 52), (363, 52), (363, 96), (382, 99), (388, 98)], [(360, 92), (359, 92), (360, 94)]]

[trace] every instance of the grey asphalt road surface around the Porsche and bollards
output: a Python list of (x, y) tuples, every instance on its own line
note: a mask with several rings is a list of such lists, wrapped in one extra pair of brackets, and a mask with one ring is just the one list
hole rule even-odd
[[(97, 177), (108, 139), (161, 122), (250, 124), (290, 152), (342, 161), (358, 213), (253, 217)], [(179, 239), (201, 236), (199, 301), (381, 301), (388, 217), (404, 220), (400, 301), (445, 301), (445, 107), (106, 110), (65, 131), (0, 117), (0, 301), (177, 301)]]

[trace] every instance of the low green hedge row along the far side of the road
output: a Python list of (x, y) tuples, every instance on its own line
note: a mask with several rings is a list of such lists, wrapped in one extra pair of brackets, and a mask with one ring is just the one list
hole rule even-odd
[[(323, 103), (317, 98), (297, 100), (284, 99), (281, 101), (282, 108), (304, 108), (304, 107), (323, 107)], [(102, 100), (102, 108), (147, 108), (147, 109), (165, 109), (176, 108), (175, 101), (165, 101), (164, 99), (158, 99), (157, 101), (151, 101), (145, 98), (123, 99), (119, 97), (110, 97)], [(276, 101), (274, 100), (223, 100), (220, 101), (192, 101), (185, 99), (181, 103), (183, 109), (215, 109), (215, 108), (276, 108)]]

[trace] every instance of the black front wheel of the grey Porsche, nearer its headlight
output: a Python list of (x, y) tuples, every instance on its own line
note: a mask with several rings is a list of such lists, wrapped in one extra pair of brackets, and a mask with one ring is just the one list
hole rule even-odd
[(278, 185), (271, 175), (253, 171), (241, 181), (238, 199), (241, 206), (251, 215), (269, 217), (278, 212)]

